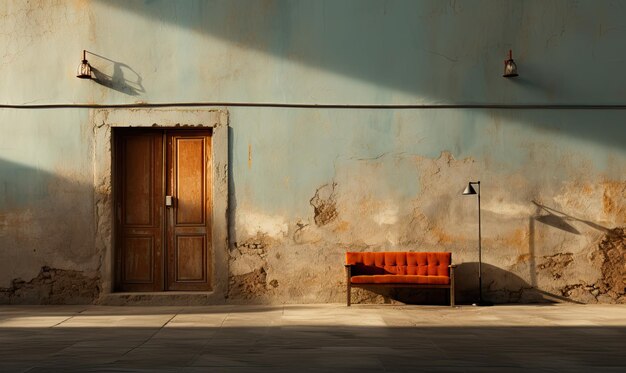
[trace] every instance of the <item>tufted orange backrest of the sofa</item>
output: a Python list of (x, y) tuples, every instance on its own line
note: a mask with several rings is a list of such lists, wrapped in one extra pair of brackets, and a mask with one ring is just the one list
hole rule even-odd
[(347, 252), (352, 275), (450, 276), (452, 253), (446, 252)]

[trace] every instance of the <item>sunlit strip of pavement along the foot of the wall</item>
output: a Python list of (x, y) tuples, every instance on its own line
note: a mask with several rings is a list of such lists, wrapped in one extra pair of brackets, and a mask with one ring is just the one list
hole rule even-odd
[[(10, 307), (8, 307), (10, 309)], [(158, 307), (156, 307), (158, 309)], [(207, 307), (199, 307), (203, 311)], [(111, 308), (107, 314), (66, 313), (55, 315), (2, 316), (0, 328), (137, 328), (167, 330), (220, 330), (237, 328), (449, 328), (449, 327), (603, 327), (626, 326), (626, 305), (511, 305), (480, 308), (462, 306), (372, 306), (337, 304), (288, 305), (283, 309), (255, 309), (246, 312), (206, 313), (193, 307), (184, 313), (156, 313), (148, 307), (145, 313), (137, 308)], [(98, 311), (100, 313), (100, 311)], [(152, 313), (152, 314), (151, 314)], [(314, 329), (310, 329), (314, 328)]]

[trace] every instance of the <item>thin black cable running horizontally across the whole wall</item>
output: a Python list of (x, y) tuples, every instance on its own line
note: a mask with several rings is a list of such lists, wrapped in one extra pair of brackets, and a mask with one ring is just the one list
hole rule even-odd
[(274, 102), (160, 102), (133, 104), (0, 104), (0, 109), (115, 109), (159, 107), (258, 107), (287, 109), (521, 109), (521, 110), (626, 110), (626, 105), (570, 104), (441, 104), (441, 105), (369, 105), (369, 104), (306, 104)]

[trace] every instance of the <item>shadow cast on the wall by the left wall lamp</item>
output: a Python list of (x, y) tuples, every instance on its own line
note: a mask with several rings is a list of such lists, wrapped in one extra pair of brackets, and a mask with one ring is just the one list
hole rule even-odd
[[(113, 61), (93, 52), (87, 53), (96, 57), (90, 62), (94, 82), (129, 96), (138, 96), (146, 92), (141, 84), (141, 76), (127, 64)], [(107, 74), (106, 72), (110, 73)]]

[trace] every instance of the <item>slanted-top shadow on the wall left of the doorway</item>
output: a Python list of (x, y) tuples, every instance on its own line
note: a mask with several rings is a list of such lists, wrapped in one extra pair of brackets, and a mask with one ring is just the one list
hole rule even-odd
[(0, 304), (91, 303), (93, 188), (0, 159)]

